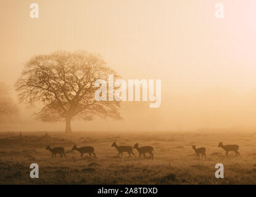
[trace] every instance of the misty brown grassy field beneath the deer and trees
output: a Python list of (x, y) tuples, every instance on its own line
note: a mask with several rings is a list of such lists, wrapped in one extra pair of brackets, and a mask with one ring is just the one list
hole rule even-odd
[[(255, 184), (256, 133), (226, 132), (2, 132), (1, 184)], [(239, 145), (241, 156), (218, 148), (218, 142)], [(154, 160), (118, 157), (111, 147), (139, 143), (154, 147)], [(80, 157), (77, 147), (92, 146), (97, 158)], [(66, 158), (51, 158), (46, 146), (64, 147)], [(206, 159), (196, 158), (191, 145), (205, 147)], [(30, 164), (39, 165), (39, 179), (30, 178)], [(215, 178), (215, 164), (225, 167), (225, 179)]]

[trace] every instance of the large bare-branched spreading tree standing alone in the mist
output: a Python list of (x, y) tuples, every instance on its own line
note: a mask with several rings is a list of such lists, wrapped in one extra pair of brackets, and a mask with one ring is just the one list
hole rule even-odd
[(72, 132), (71, 121), (91, 121), (94, 116), (120, 119), (120, 103), (94, 99), (99, 87), (97, 79), (108, 80), (111, 70), (99, 55), (85, 51), (59, 51), (49, 55), (36, 55), (25, 65), (15, 86), (20, 102), (41, 103), (35, 113), (44, 122), (65, 121), (65, 132)]

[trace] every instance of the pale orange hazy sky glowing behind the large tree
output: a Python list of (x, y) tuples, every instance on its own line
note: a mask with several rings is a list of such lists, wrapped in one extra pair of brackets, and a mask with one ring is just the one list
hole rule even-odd
[[(30, 18), (33, 2), (38, 19)], [(33, 55), (83, 49), (126, 80), (162, 79), (162, 105), (124, 112), (124, 121), (73, 123), (76, 131), (255, 127), (255, 9), (254, 0), (2, 0), (0, 81), (13, 87)], [(64, 129), (20, 108), (20, 122), (5, 129)]]

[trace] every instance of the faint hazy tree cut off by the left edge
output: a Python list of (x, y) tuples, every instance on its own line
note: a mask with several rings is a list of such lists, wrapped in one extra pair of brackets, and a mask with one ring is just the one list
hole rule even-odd
[(10, 92), (7, 86), (0, 82), (0, 123), (15, 121), (19, 114), (17, 105), (10, 98)]

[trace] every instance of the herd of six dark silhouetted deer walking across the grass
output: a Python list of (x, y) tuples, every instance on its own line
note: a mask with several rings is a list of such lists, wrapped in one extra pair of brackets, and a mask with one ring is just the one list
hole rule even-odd
[[(136, 156), (133, 153), (133, 148), (135, 148), (136, 150), (138, 150), (139, 158), (141, 157), (141, 155), (143, 155), (144, 158), (146, 158), (146, 153), (149, 153), (149, 158), (151, 158), (151, 159), (154, 158), (154, 155), (153, 155), (154, 148), (150, 147), (150, 146), (139, 147), (138, 143), (136, 143), (133, 147), (130, 147), (130, 146), (118, 146), (116, 142), (114, 142), (111, 146), (115, 147), (117, 149), (118, 156), (121, 155), (121, 157), (123, 157), (123, 153), (126, 152), (126, 153), (129, 154), (129, 157), (131, 155), (133, 155), (134, 158), (136, 158)], [(223, 145), (223, 142), (220, 142), (218, 144), (218, 147), (219, 148), (221, 147), (221, 148), (223, 148), (226, 151), (226, 156), (228, 156), (228, 152), (229, 151), (234, 151), (236, 153), (236, 156), (240, 155), (240, 153), (238, 152), (238, 150), (239, 150), (239, 146), (238, 145)], [(206, 154), (205, 154), (206, 148), (204, 148), (204, 147), (196, 148), (196, 146), (194, 146), (194, 145), (192, 145), (192, 148), (196, 152), (198, 158), (200, 157), (200, 154), (202, 154), (202, 158), (204, 158), (204, 157), (206, 158)], [(65, 150), (64, 150), (63, 147), (51, 148), (50, 146), (47, 146), (46, 150), (51, 151), (52, 156), (56, 156), (56, 154), (60, 154), (61, 157), (62, 157), (62, 155), (65, 156), (65, 153), (64, 153)], [(76, 151), (80, 152), (81, 153), (81, 157), (83, 156), (84, 153), (89, 153), (89, 157), (90, 158), (91, 158), (92, 154), (94, 155), (94, 157), (96, 157), (96, 154), (94, 153), (94, 148), (93, 147), (80, 147), (80, 148), (77, 148), (76, 145), (75, 145), (75, 146), (73, 146), (72, 150), (76, 150)]]

